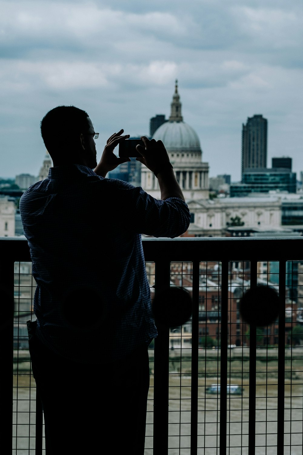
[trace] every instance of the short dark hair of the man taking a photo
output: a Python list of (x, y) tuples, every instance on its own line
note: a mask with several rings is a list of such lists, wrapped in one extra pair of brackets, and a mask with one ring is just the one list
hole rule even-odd
[(47, 151), (52, 153), (60, 148), (74, 147), (81, 133), (89, 130), (88, 113), (75, 106), (57, 106), (41, 120), (41, 136)]

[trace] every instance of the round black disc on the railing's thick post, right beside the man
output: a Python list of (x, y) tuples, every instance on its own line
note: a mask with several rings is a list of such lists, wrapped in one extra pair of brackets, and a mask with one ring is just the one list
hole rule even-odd
[(155, 294), (152, 310), (156, 325), (179, 327), (192, 315), (192, 299), (183, 288), (162, 288)]

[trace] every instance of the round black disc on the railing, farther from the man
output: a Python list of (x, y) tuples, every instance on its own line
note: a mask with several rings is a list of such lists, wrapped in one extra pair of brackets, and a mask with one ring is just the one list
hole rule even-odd
[(240, 300), (240, 313), (244, 322), (264, 327), (272, 324), (279, 314), (280, 298), (273, 288), (250, 288)]

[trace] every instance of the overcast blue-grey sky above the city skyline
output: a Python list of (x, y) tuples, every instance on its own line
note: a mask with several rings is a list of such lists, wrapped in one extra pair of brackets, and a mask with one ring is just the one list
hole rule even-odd
[(303, 171), (302, 0), (0, 1), (0, 176), (37, 175), (40, 120), (86, 110), (97, 151), (169, 116), (174, 80), (210, 176), (240, 178), (241, 130), (268, 119), (271, 157)]

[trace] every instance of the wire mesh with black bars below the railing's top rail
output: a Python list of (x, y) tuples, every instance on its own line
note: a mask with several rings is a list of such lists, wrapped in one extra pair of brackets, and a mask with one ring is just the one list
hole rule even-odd
[[(164, 279), (191, 295), (193, 315), (182, 326), (161, 329), (160, 341), (149, 346), (145, 455), (302, 455), (303, 260), (168, 263), (163, 278), (163, 264), (146, 262), (152, 298)], [(283, 296), (279, 317), (254, 329), (240, 315), (243, 293), (253, 285)], [(26, 327), (35, 319), (34, 292), (31, 263), (16, 262), (12, 424), (19, 455), (38, 453)], [(161, 437), (159, 415), (166, 422)], [(43, 448), (44, 441), (42, 454)]]

